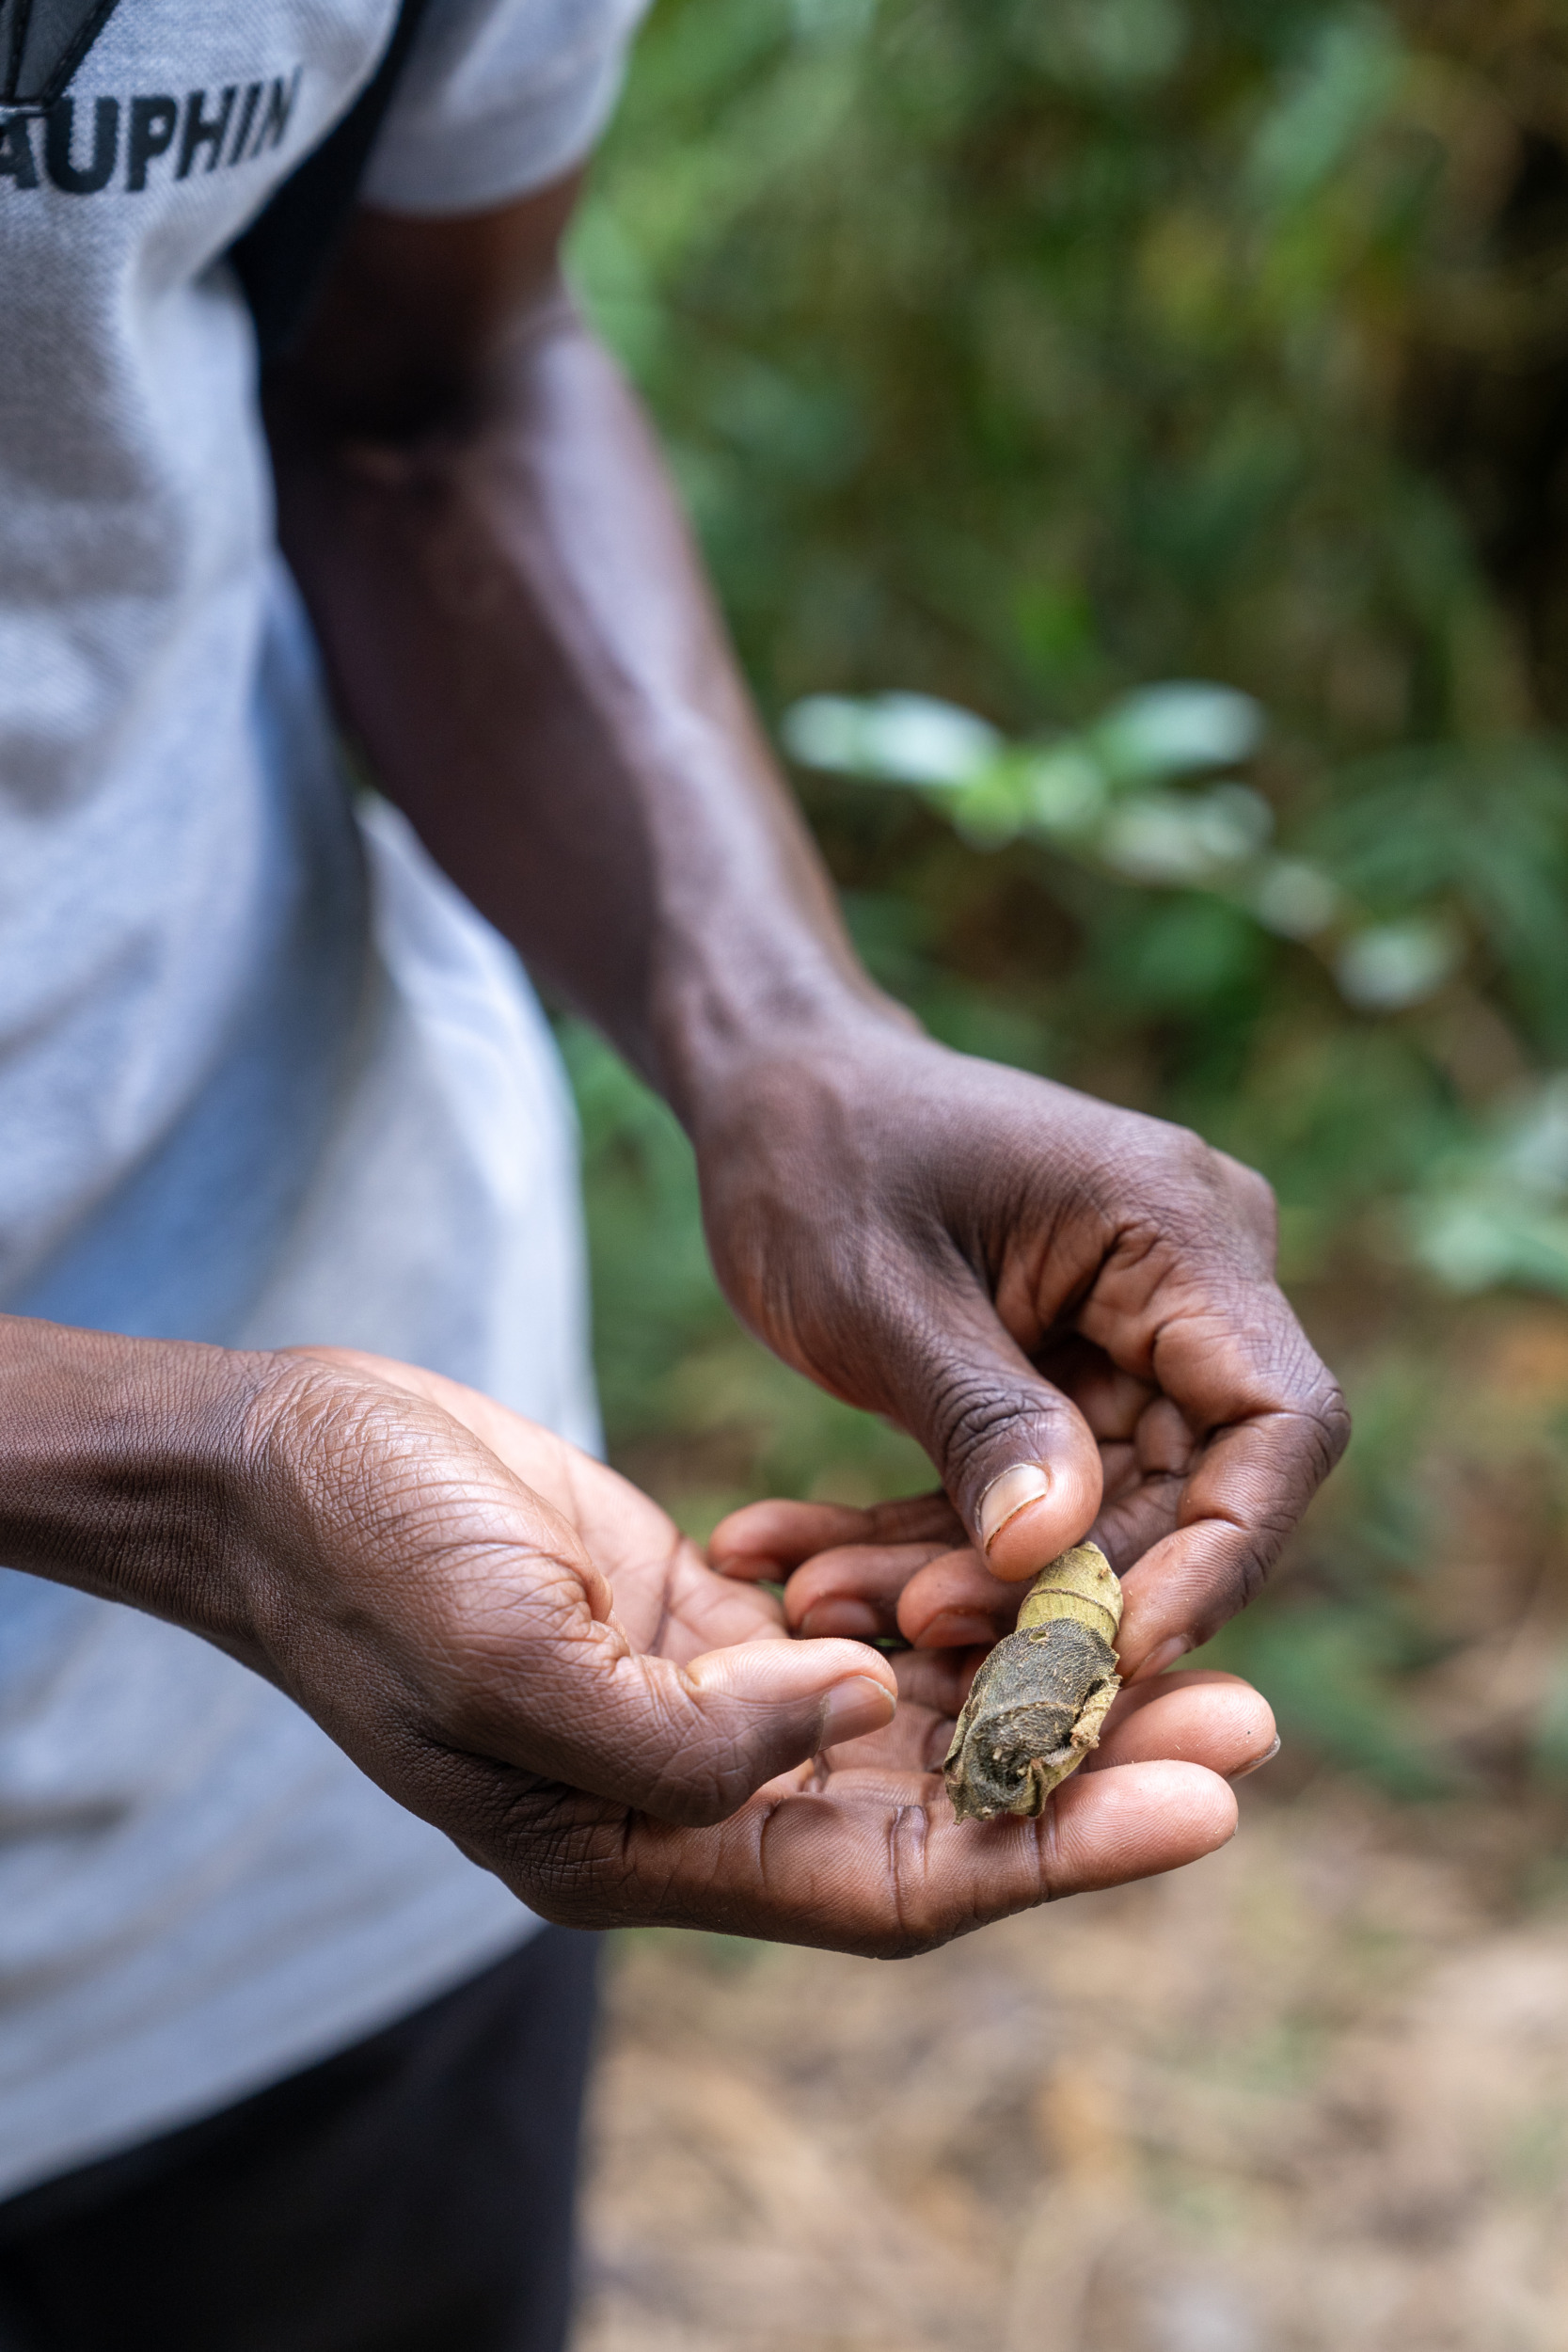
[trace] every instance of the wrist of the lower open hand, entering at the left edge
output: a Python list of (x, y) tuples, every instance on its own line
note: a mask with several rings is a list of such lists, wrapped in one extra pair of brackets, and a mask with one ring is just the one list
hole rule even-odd
[(275, 1367), (0, 1317), (0, 1559), (249, 1651)]

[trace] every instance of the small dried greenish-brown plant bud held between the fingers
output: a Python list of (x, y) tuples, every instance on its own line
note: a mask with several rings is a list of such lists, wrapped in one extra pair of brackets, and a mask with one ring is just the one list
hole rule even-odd
[(1098, 1543), (1079, 1543), (1030, 1585), (1018, 1630), (973, 1679), (943, 1764), (959, 1820), (1039, 1813), (1100, 1745), (1121, 1689), (1112, 1642), (1121, 1585)]

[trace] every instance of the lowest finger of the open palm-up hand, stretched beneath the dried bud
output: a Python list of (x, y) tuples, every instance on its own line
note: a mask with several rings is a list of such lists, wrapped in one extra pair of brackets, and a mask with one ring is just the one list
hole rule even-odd
[(583, 1926), (726, 1929), (884, 1959), (1039, 1903), (1175, 1870), (1237, 1828), (1225, 1780), (1197, 1764), (1074, 1776), (1039, 1820), (954, 1820), (940, 1783), (835, 1773), (764, 1790), (705, 1830), (585, 1823), (541, 1842), (517, 1891)]

